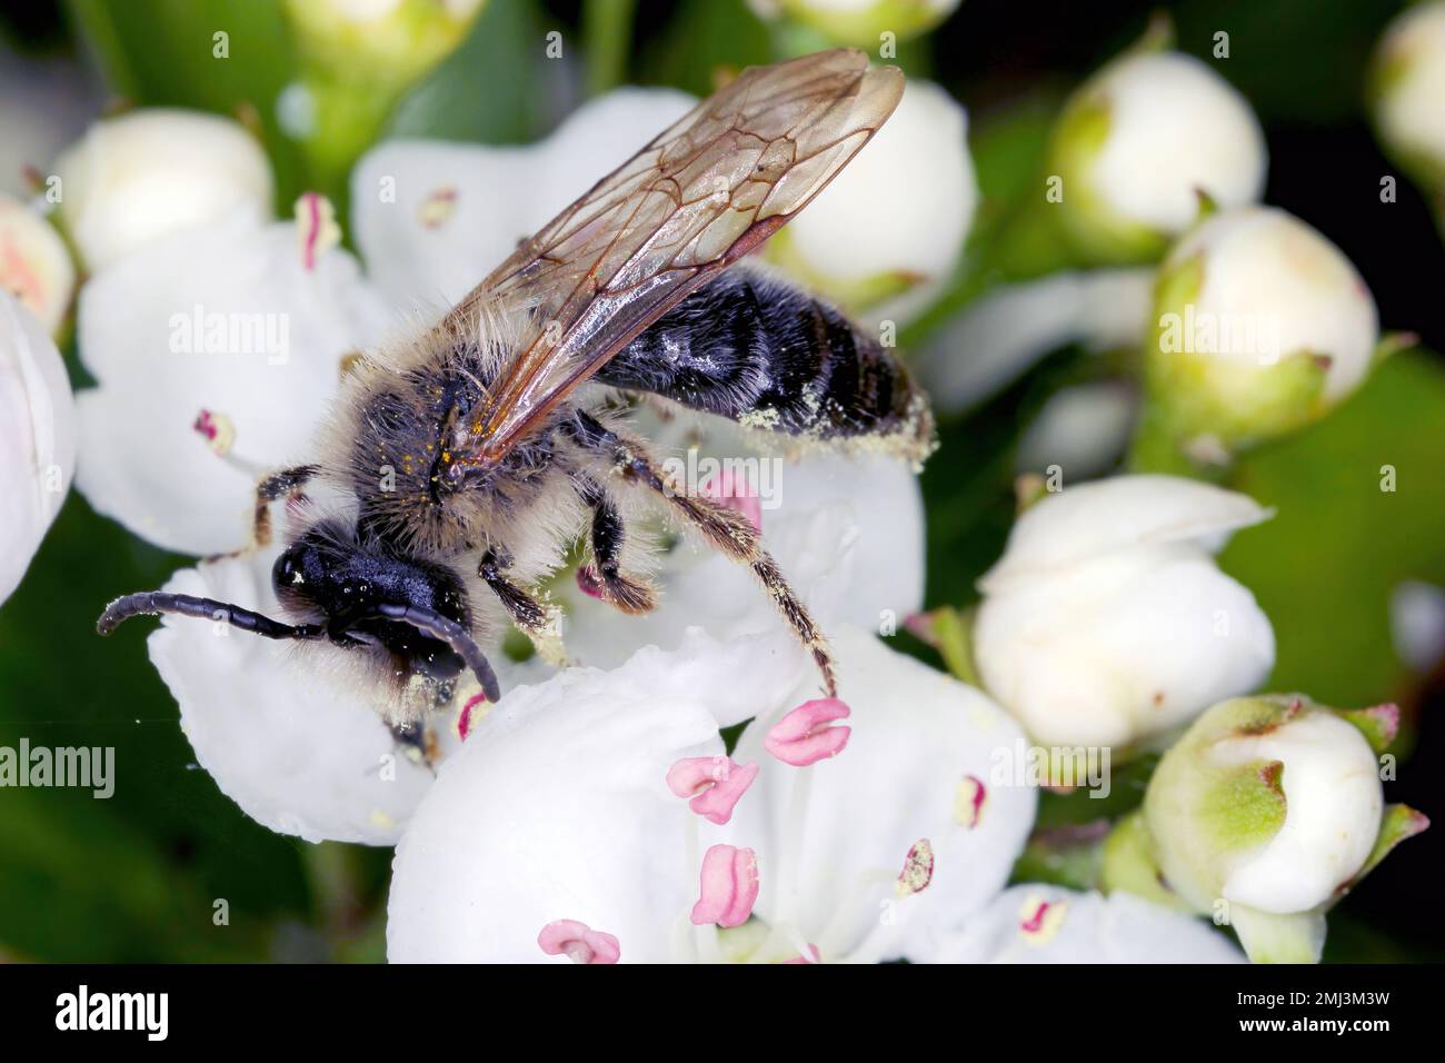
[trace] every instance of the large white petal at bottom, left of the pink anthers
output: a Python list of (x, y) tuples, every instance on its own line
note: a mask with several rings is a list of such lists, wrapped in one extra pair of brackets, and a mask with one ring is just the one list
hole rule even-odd
[[(699, 636), (689, 654), (717, 648)], [(605, 928), (627, 962), (673, 957), (701, 856), (685, 848), (699, 821), (668, 769), (722, 755), (707, 704), (673, 690), (686, 655), (569, 668), (503, 696), (442, 764), (397, 848), (393, 962), (536, 962), (538, 927), (558, 918)]]

